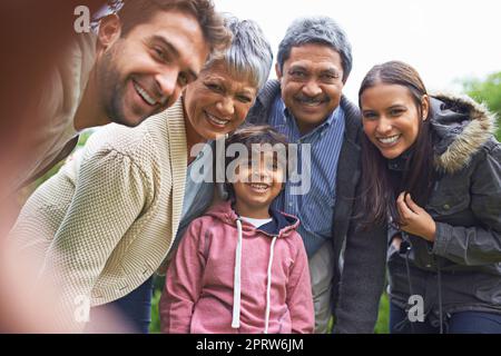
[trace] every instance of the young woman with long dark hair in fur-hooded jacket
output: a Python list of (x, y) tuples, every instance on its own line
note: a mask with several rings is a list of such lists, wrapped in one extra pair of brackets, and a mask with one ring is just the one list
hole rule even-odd
[(364, 222), (389, 226), (391, 332), (501, 333), (495, 117), (468, 97), (430, 96), (399, 61), (369, 71), (358, 103)]

